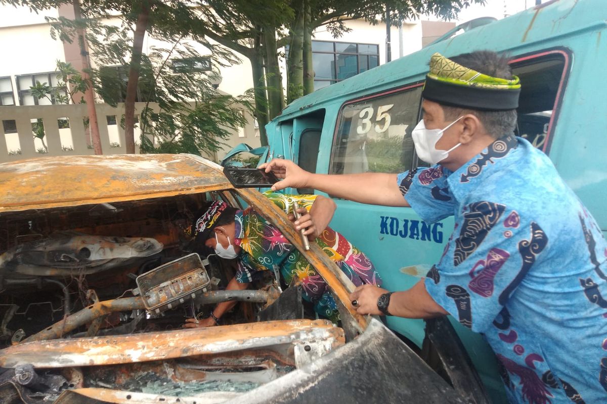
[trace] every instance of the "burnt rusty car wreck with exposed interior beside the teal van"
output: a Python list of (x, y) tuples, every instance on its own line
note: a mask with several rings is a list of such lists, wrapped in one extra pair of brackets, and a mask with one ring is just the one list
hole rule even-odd
[[(257, 191), (188, 155), (44, 157), (0, 165), (0, 402), (464, 403), (351, 282)], [(328, 283), (341, 322), (268, 274), (223, 290), (234, 262), (191, 251), (176, 225), (203, 202), (251, 205)], [(222, 325), (184, 329), (237, 300)], [(456, 386), (457, 388), (457, 386)]]

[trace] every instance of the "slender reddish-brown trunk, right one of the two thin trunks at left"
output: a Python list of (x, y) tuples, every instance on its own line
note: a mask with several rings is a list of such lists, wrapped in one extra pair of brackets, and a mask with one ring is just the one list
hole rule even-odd
[(149, 12), (149, 2), (143, 0), (137, 24), (135, 24), (131, 65), (129, 66), (129, 81), (126, 85), (126, 100), (124, 101), (124, 143), (127, 154), (135, 153), (135, 97), (137, 96), (137, 82), (141, 68), (141, 50), (143, 49), (143, 38), (148, 29)]

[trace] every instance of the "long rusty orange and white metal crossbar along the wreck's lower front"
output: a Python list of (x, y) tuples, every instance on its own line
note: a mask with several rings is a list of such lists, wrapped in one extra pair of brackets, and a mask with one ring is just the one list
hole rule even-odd
[[(344, 330), (329, 320), (286, 320), (180, 329), (162, 333), (27, 342), (0, 351), (0, 367), (114, 365), (298, 344), (327, 350), (344, 345)], [(319, 349), (320, 349), (319, 348)], [(305, 352), (305, 351), (304, 351)]]

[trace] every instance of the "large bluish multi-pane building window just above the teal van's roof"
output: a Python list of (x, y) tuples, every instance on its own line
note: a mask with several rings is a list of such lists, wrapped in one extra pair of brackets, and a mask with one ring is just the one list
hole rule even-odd
[(314, 90), (379, 65), (379, 45), (312, 41)]

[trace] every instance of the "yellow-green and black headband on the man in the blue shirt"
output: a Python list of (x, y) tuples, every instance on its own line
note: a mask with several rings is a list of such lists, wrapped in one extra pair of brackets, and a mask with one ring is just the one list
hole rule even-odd
[(521, 84), (517, 76), (500, 79), (460, 65), (440, 53), (430, 58), (422, 96), (439, 104), (487, 111), (518, 108)]

